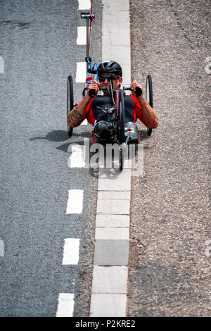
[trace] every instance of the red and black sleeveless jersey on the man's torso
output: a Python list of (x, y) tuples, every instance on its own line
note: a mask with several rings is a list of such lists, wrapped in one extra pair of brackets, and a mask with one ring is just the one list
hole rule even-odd
[[(92, 125), (99, 120), (108, 120), (107, 114), (103, 113), (101, 108), (110, 106), (110, 97), (106, 95), (97, 95), (91, 99), (86, 110), (86, 118)], [(143, 122), (143, 111), (136, 96), (124, 96), (124, 120), (125, 122), (136, 122), (137, 118)]]

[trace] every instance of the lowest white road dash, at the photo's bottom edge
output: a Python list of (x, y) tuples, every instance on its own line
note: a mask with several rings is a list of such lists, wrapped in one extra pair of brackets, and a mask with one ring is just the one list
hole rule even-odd
[(74, 294), (60, 293), (56, 317), (72, 317), (74, 311)]

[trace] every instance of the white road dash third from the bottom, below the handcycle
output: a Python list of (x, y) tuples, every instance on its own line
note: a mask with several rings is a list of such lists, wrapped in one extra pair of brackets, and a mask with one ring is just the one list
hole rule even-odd
[(66, 214), (80, 214), (83, 210), (84, 191), (82, 189), (69, 189)]

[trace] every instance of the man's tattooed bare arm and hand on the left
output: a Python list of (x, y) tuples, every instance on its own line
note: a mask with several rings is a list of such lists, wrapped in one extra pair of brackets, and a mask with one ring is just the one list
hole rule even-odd
[[(98, 82), (95, 80), (89, 85), (89, 89), (95, 89), (96, 93), (98, 92)], [(89, 102), (91, 101), (91, 97), (89, 96), (89, 89), (87, 92), (87, 96), (84, 96), (84, 99), (77, 104), (72, 111), (68, 114), (68, 125), (70, 127), (77, 127), (79, 126), (84, 118), (86, 117), (86, 110)]]

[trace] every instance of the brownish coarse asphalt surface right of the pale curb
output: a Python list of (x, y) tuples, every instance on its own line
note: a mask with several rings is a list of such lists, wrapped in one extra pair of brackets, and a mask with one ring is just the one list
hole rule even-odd
[(132, 77), (151, 73), (160, 124), (140, 125), (128, 316), (210, 316), (210, 1), (130, 4)]

